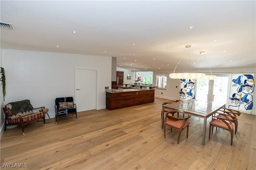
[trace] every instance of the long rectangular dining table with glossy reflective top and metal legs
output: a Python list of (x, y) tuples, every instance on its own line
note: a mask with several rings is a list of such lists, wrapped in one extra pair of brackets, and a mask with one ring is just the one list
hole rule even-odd
[[(207, 100), (181, 100), (179, 102), (170, 103), (162, 106), (162, 129), (164, 128), (164, 110), (176, 111), (178, 113), (185, 113), (187, 115), (196, 116), (204, 119), (202, 145), (205, 143), (206, 124), (207, 118), (216, 113), (221, 108), (224, 108), (226, 104), (221, 102), (212, 102)], [(188, 119), (189, 121), (189, 119)]]

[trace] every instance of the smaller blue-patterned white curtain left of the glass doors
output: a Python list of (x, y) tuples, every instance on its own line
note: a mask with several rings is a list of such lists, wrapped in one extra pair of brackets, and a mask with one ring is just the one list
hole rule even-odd
[(196, 80), (180, 79), (180, 100), (195, 98)]

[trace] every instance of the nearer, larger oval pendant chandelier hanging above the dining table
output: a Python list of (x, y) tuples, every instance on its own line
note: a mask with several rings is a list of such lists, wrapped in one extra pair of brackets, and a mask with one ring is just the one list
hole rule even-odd
[[(186, 52), (186, 54), (188, 54), (189, 60), (190, 60), (190, 53), (192, 53), (192, 50), (190, 48), (191, 45), (186, 45), (185, 47), (186, 48), (183, 52), (183, 55), (180, 57), (180, 61), (178, 62), (178, 64), (180, 64), (180, 62), (182, 61), (182, 57), (184, 57), (185, 52)], [(193, 55), (193, 53), (192, 53), (192, 55)], [(195, 79), (196, 80), (196, 79), (202, 79), (205, 76), (204, 73), (199, 73), (199, 72), (195, 72), (195, 73), (192, 73), (192, 72), (175, 73), (175, 70), (176, 70), (178, 64), (174, 68), (174, 72), (169, 74), (170, 78), (174, 78), (174, 79), (193, 79), (193, 80)]]

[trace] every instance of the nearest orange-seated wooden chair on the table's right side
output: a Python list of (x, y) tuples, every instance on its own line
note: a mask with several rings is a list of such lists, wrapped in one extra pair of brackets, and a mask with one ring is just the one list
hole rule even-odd
[(212, 116), (212, 120), (210, 121), (210, 128), (209, 128), (209, 139), (211, 135), (211, 130), (213, 133), (213, 127), (220, 127), (230, 132), (231, 145), (232, 145), (233, 135), (234, 135), (233, 123), (236, 123), (237, 119), (238, 119), (237, 117), (229, 115), (228, 113), (226, 113), (226, 111), (223, 111), (223, 113), (218, 113), (217, 116)]

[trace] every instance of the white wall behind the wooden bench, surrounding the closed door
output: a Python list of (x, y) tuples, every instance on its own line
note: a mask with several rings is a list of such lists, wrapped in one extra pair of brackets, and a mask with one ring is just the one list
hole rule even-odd
[[(6, 72), (4, 104), (29, 99), (33, 107), (45, 106), (50, 117), (55, 117), (55, 98), (75, 99), (75, 67), (82, 67), (99, 70), (97, 108), (106, 108), (105, 86), (111, 88), (111, 57), (12, 49), (2, 49), (1, 55)], [(3, 120), (1, 124), (2, 128)]]

